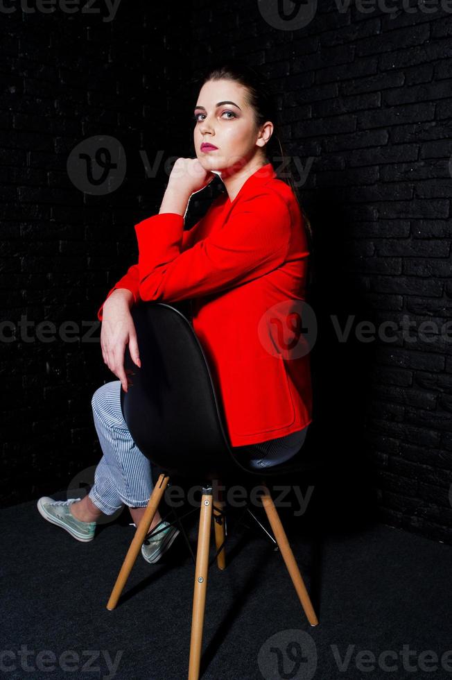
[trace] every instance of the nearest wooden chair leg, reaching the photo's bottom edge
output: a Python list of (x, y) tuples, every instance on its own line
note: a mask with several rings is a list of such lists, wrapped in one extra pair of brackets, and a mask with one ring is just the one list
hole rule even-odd
[(202, 489), (198, 550), (196, 552), (195, 587), (193, 590), (193, 612), (191, 617), (191, 640), (189, 680), (198, 680), (200, 673), (202, 628), (207, 593), (207, 572), (209, 570), (209, 544), (212, 516), (212, 488)]

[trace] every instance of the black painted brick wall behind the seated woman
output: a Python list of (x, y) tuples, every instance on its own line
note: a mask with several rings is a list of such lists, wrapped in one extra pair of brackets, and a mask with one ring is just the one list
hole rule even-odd
[[(440, 329), (451, 312), (452, 17), (417, 3), (388, 15), (378, 3), (364, 13), (328, 2), (290, 31), (270, 25), (262, 4), (141, 3), (110, 23), (0, 17), (4, 316), (96, 321), (135, 261), (134, 223), (162, 196), (164, 173), (145, 178), (137, 149), (192, 155), (189, 78), (220, 57), (247, 59), (280, 92), (288, 153), (312, 160), (302, 198), (315, 234), (314, 431), (331, 461), (327, 519), (372, 510), (452, 543), (451, 342), (419, 337), (421, 322)], [(117, 137), (128, 158), (121, 188), (101, 198), (65, 170), (90, 135)], [(340, 342), (334, 319), (343, 328), (349, 316)], [(392, 322), (392, 341), (360, 341), (361, 322)], [(98, 341), (2, 343), (2, 357), (2, 497), (12, 504), (98, 461), (90, 400), (114, 376)]]

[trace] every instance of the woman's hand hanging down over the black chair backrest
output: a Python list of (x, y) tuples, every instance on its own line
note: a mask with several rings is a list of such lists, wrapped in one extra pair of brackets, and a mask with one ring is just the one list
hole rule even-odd
[(141, 368), (137, 332), (132, 314), (130, 314), (132, 303), (133, 295), (131, 291), (119, 288), (105, 300), (102, 312), (101, 348), (103, 360), (110, 371), (121, 380), (125, 392), (127, 392), (129, 384), (128, 376), (124, 370), (124, 352), (127, 343), (132, 361)]

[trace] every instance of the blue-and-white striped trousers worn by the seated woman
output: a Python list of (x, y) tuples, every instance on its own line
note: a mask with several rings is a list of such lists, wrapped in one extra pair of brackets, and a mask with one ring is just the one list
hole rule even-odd
[[(106, 515), (114, 514), (123, 504), (146, 507), (154, 488), (150, 461), (134, 443), (125, 423), (121, 389), (120, 380), (107, 382), (96, 389), (91, 402), (103, 456), (96, 467), (89, 498)], [(277, 439), (234, 447), (234, 451), (246, 457), (250, 468), (261, 470), (293, 457), (308, 427)]]

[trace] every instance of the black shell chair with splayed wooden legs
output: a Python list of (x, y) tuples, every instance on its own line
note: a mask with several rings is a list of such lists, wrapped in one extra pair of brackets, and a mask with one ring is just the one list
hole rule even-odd
[[(132, 318), (137, 330), (141, 368), (137, 368), (132, 362), (126, 348), (124, 366), (133, 375), (128, 392), (121, 389), (121, 407), (135, 443), (162, 473), (159, 474), (144, 517), (125, 556), (107, 609), (114, 609), (121, 596), (169, 480), (172, 477), (200, 479), (202, 499), (195, 559), (188, 676), (189, 680), (198, 680), (212, 514), (216, 563), (221, 570), (226, 567), (225, 502), (216, 488), (216, 481), (225, 483), (225, 480), (234, 479), (236, 483), (238, 477), (248, 481), (255, 479), (256, 475), (261, 477), (261, 502), (277, 545), (308, 622), (311, 626), (318, 625), (318, 618), (264, 479), (304, 470), (313, 465), (303, 459), (300, 450), (286, 463), (265, 470), (247, 468), (243, 457), (234, 454), (225, 435), (223, 406), (218, 402), (205, 353), (189, 319), (177, 307), (155, 302), (134, 305)], [(182, 528), (180, 521), (176, 521)], [(153, 535), (158, 530), (159, 525), (153, 529)], [(186, 536), (185, 539), (189, 545)], [(191, 550), (190, 545), (189, 548)]]

